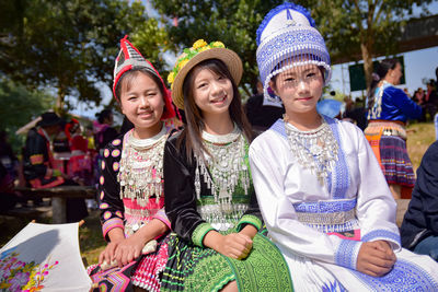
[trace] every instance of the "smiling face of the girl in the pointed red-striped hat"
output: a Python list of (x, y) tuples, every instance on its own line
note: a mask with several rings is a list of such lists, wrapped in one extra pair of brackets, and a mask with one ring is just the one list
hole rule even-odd
[(137, 71), (123, 80), (120, 86), (122, 113), (134, 124), (135, 129), (150, 129), (151, 132), (161, 129), (164, 98), (157, 82), (147, 73)]

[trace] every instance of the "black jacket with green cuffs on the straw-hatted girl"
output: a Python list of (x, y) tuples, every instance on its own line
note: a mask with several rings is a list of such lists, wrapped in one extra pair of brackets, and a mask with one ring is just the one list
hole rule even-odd
[(196, 199), (196, 160), (192, 156), (192, 163), (188, 162), (184, 140), (181, 149), (177, 149), (180, 135), (181, 132), (170, 137), (164, 148), (165, 211), (172, 223), (172, 230), (184, 240), (201, 247), (205, 235), (211, 230), (227, 231), (232, 227), (241, 230), (246, 224), (260, 230), (262, 215), (253, 186), (247, 195), (237, 188), (232, 199), (233, 211), (224, 214), (215, 202), (211, 190), (200, 174), (201, 198)]

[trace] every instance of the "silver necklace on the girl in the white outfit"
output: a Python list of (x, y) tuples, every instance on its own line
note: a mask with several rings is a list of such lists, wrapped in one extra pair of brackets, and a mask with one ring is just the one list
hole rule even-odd
[(338, 144), (324, 118), (316, 129), (300, 131), (285, 120), (290, 150), (298, 163), (316, 175), (320, 184), (328, 176), (337, 162)]

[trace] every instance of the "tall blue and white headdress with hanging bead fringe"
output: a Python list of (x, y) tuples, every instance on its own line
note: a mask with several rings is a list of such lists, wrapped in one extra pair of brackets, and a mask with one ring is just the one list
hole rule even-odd
[[(330, 81), (330, 55), (314, 25), (309, 11), (293, 3), (284, 3), (266, 14), (257, 28), (256, 52), (266, 100), (276, 100), (268, 93), (270, 79), (293, 67), (310, 63), (323, 67), (325, 84)], [(276, 101), (280, 103), (278, 97)]]

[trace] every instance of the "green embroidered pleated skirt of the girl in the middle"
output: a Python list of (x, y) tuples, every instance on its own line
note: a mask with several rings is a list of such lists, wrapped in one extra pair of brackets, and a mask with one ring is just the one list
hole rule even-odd
[(253, 240), (243, 260), (201, 248), (171, 234), (161, 291), (219, 291), (230, 281), (239, 291), (293, 291), (288, 266), (279, 249), (264, 235)]

